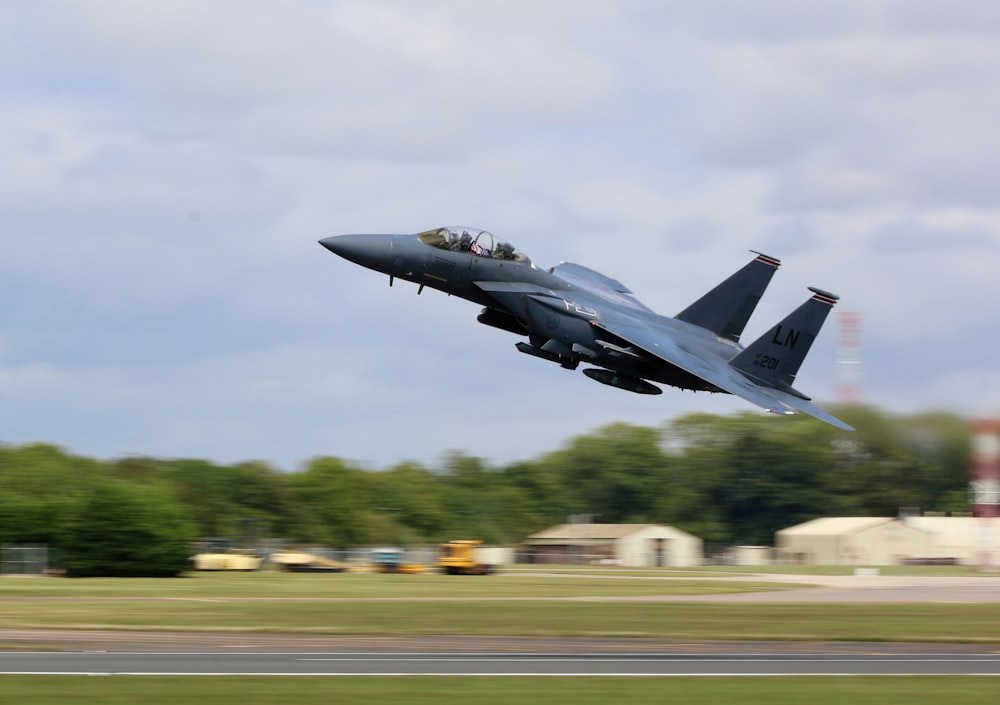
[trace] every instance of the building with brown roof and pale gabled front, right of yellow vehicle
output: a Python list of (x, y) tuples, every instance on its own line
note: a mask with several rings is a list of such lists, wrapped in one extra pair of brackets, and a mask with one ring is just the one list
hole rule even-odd
[(561, 524), (524, 541), (535, 563), (604, 563), (679, 568), (701, 565), (702, 541), (659, 524)]

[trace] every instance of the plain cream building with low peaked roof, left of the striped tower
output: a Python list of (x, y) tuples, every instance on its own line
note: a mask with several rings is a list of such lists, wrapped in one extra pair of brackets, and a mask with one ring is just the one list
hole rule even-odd
[(898, 565), (930, 555), (926, 530), (884, 517), (828, 517), (777, 533), (778, 559), (810, 565)]

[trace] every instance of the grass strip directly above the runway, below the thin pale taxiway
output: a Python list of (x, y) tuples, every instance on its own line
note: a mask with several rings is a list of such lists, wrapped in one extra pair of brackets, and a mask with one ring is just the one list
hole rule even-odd
[(0, 628), (1000, 642), (1000, 604), (0, 600)]

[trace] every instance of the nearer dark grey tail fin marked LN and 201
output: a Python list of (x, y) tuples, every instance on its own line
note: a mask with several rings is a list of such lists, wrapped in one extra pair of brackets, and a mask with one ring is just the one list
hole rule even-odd
[(808, 301), (729, 361), (730, 365), (758, 384), (788, 392), (800, 399), (809, 397), (792, 389), (792, 382), (827, 314), (840, 298), (813, 287), (809, 287), (809, 291), (813, 295)]

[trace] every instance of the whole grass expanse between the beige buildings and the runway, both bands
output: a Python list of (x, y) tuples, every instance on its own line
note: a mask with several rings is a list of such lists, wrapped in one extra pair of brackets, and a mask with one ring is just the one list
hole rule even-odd
[(782, 587), (662, 577), (605, 571), (562, 577), (265, 572), (160, 580), (6, 578), (0, 580), (0, 628), (1000, 643), (1000, 604), (649, 601)]

